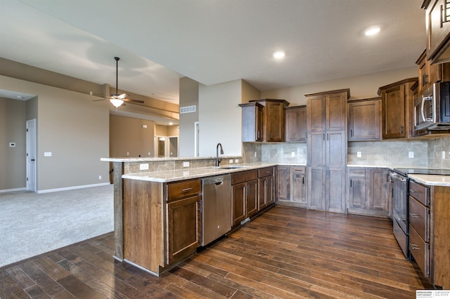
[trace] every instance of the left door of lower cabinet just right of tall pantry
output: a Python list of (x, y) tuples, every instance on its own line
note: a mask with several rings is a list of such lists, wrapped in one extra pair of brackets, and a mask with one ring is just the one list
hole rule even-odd
[(348, 212), (364, 213), (366, 209), (366, 171), (349, 168)]

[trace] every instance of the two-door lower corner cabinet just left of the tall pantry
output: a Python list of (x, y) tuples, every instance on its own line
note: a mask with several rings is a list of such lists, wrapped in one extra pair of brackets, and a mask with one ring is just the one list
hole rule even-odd
[(278, 204), (307, 206), (307, 178), (304, 166), (278, 166)]

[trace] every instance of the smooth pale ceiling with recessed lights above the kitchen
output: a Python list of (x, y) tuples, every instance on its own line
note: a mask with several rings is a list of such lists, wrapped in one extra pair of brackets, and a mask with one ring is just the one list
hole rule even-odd
[(415, 65), (422, 2), (0, 0), (0, 56), (110, 86), (119, 56), (120, 89), (169, 102), (185, 76), (265, 91)]

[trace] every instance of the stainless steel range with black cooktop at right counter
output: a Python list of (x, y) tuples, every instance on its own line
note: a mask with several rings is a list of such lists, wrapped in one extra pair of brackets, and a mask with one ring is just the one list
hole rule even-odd
[(430, 168), (394, 168), (390, 172), (392, 218), (395, 239), (400, 245), (406, 258), (409, 253), (409, 174), (450, 175), (449, 169)]

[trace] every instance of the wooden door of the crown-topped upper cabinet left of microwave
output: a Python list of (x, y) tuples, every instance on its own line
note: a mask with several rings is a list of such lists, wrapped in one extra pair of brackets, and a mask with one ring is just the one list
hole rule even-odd
[(404, 84), (382, 93), (383, 138), (406, 137), (406, 98)]

